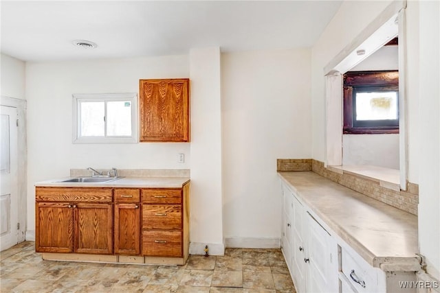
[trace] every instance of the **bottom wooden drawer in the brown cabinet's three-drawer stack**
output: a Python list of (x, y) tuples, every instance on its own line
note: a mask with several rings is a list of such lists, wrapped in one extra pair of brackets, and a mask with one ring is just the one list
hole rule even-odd
[(143, 231), (142, 255), (181, 257), (181, 231)]

